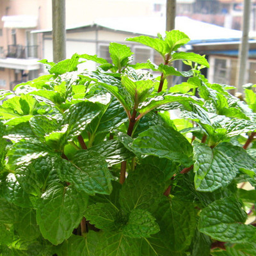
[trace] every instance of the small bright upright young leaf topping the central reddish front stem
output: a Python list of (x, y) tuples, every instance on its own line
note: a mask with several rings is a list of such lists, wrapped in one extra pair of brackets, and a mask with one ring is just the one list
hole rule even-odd
[(132, 81), (127, 76), (122, 76), (122, 84), (136, 104), (143, 102), (147, 98), (150, 89), (154, 87), (154, 81), (152, 80)]

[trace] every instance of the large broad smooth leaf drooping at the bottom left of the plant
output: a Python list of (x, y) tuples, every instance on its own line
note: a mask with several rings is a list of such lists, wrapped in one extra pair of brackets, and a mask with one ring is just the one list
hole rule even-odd
[[(38, 200), (36, 221), (45, 239), (60, 244), (71, 236), (86, 211), (88, 196), (82, 191), (53, 184)], [(74, 211), (76, 209), (76, 211)]]

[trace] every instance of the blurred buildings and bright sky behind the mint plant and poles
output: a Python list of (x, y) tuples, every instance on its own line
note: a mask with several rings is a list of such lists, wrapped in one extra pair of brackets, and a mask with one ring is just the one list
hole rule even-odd
[[(97, 54), (109, 60), (109, 42), (127, 44), (134, 62), (161, 56), (125, 38), (164, 35), (166, 0), (66, 0), (67, 58), (75, 52)], [(203, 70), (210, 83), (236, 86), (237, 60), (243, 28), (243, 0), (176, 0), (175, 29), (191, 41), (182, 51), (205, 54), (210, 68)], [(173, 14), (172, 14), (173, 15)], [(245, 83), (256, 83), (256, 0), (250, 1), (249, 50)], [(44, 73), (38, 60), (53, 60), (52, 0), (0, 0), (0, 89)], [(182, 61), (175, 67), (184, 70)], [(84, 63), (83, 68), (95, 68)], [(173, 84), (182, 78), (173, 79)]]

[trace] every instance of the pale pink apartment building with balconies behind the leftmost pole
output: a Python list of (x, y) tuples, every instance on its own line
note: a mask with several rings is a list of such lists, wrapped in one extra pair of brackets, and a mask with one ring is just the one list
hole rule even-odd
[[(159, 14), (159, 0), (66, 0), (66, 26), (96, 18), (138, 17)], [(38, 77), (44, 57), (42, 34), (51, 29), (51, 0), (0, 0), (0, 89)], [(113, 38), (115, 40), (115, 38)]]

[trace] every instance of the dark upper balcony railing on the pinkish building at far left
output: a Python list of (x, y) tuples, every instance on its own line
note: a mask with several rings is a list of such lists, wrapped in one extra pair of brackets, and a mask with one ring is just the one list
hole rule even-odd
[(38, 45), (8, 45), (7, 58), (38, 58)]

